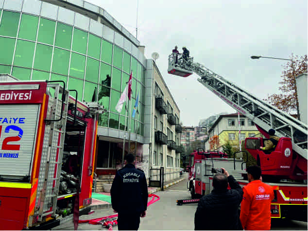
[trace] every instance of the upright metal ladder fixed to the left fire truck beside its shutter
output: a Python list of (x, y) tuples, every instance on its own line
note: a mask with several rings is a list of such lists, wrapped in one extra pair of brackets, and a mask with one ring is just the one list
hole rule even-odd
[(49, 108), (45, 119), (46, 134), (40, 165), (42, 174), (39, 176), (38, 189), (40, 191), (36, 204), (38, 213), (34, 214), (39, 222), (49, 214), (52, 217), (55, 216), (69, 98), (68, 90), (65, 90), (65, 83), (63, 87), (59, 83), (51, 81), (47, 86), (54, 93), (49, 98)]

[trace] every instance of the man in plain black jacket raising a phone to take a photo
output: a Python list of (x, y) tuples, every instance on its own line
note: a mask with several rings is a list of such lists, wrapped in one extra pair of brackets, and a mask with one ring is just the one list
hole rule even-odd
[[(195, 213), (195, 230), (242, 230), (239, 206), (240, 184), (222, 168), (213, 178), (214, 189), (200, 199)], [(227, 189), (228, 183), (231, 189)]]

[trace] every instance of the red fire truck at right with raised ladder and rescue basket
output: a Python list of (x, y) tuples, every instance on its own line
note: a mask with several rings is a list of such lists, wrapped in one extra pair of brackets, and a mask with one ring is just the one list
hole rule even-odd
[[(246, 138), (245, 148), (261, 167), (263, 181), (274, 189), (272, 217), (307, 221), (307, 124), (258, 99), (207, 67), (193, 62), (192, 57), (179, 57), (175, 63), (171, 54), (168, 61), (168, 73), (181, 77), (196, 73), (201, 77), (198, 82), (256, 124), (265, 138)], [(274, 151), (264, 152), (259, 148), (265, 146), (269, 139), (267, 131), (271, 128), (281, 138)], [(192, 198), (211, 192), (213, 174), (221, 167), (242, 186), (248, 183), (245, 162), (236, 156), (230, 159), (220, 152), (215, 154), (204, 150), (189, 155), (188, 189)], [(178, 200), (178, 204), (191, 202), (196, 202), (196, 199)]]

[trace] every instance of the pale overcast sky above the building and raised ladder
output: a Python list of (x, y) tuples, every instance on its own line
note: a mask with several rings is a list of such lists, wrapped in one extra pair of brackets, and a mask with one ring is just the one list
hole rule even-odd
[[(136, 36), (137, 0), (87, 0), (113, 16)], [(307, 0), (138, 0), (138, 36), (146, 58), (156, 64), (180, 109), (184, 126), (235, 110), (197, 81), (167, 72), (168, 55), (186, 46), (198, 62), (264, 99), (278, 93), (287, 61), (307, 54)], [(181, 52), (180, 51), (180, 52)]]

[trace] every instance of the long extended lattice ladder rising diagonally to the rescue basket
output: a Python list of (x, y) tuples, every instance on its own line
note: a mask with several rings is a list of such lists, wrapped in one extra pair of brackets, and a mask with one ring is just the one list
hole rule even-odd
[[(182, 65), (181, 65), (182, 64)], [(261, 129), (273, 128), (280, 137), (290, 137), (293, 151), (307, 160), (307, 124), (293, 118), (269, 103), (253, 96), (249, 91), (224, 79), (192, 58), (187, 63), (179, 63), (180, 68), (193, 71), (205, 87), (235, 110), (254, 121)]]

